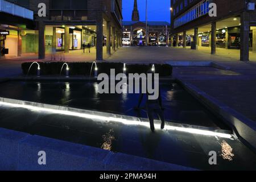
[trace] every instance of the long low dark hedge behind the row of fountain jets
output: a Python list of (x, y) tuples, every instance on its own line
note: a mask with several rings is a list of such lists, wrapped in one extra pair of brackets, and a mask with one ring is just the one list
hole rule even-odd
[[(22, 63), (22, 71), (24, 75), (27, 75), (28, 68), (32, 63)], [(66, 65), (63, 67), (63, 71), (60, 73), (63, 62), (51, 62), (43, 63), (39, 62), (40, 75), (65, 75)], [(69, 67), (69, 75), (84, 75), (89, 76), (92, 68), (92, 63), (67, 63)], [(37, 65), (32, 65), (28, 75), (36, 75)], [(92, 75), (94, 75), (94, 68), (92, 68)], [(98, 74), (106, 73), (110, 75), (110, 69), (115, 69), (115, 74), (123, 73), (123, 63), (97, 63)], [(147, 73), (152, 68), (151, 64), (127, 64), (126, 73)], [(155, 72), (159, 73), (159, 76), (171, 76), (172, 66), (168, 64), (155, 64)]]

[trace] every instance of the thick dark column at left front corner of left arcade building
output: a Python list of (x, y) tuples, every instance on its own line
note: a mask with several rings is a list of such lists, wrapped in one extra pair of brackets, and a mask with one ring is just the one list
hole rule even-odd
[(38, 32), (39, 32), (39, 40), (38, 40), (38, 59), (46, 58), (46, 36), (45, 29), (46, 25), (44, 22), (38, 22)]

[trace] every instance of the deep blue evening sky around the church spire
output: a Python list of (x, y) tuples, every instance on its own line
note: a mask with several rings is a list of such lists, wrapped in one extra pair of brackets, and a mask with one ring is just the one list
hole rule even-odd
[[(146, 19), (146, 0), (137, 0), (139, 18), (141, 21)], [(133, 11), (134, 0), (123, 0), (123, 20), (130, 21)], [(166, 21), (170, 23), (170, 0), (147, 0), (148, 21)]]

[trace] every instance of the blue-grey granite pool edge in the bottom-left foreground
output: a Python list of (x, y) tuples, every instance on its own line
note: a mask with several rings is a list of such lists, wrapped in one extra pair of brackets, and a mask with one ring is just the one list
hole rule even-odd
[[(39, 164), (40, 152), (46, 164)], [(0, 128), (0, 170), (14, 171), (195, 171), (101, 148)]]

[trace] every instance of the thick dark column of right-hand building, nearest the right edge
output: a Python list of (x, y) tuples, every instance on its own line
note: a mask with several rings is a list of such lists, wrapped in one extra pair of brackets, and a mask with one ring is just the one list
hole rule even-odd
[(249, 61), (249, 33), (250, 33), (250, 16), (249, 13), (241, 14), (241, 50), (240, 61)]

